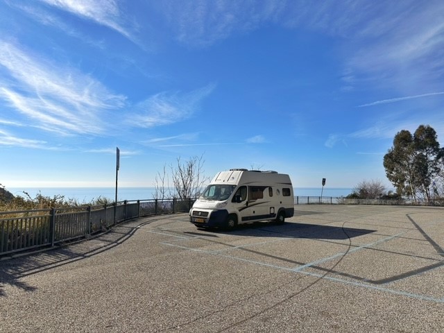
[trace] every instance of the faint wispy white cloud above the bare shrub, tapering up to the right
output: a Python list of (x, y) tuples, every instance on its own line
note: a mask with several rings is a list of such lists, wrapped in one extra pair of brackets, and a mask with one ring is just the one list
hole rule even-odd
[(133, 126), (164, 126), (191, 117), (200, 108), (200, 102), (211, 94), (215, 85), (207, 85), (192, 92), (162, 92), (135, 106), (129, 122)]

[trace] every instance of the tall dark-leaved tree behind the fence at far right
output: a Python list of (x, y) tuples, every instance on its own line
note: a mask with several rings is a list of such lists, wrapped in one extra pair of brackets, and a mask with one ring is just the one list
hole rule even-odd
[(443, 170), (443, 154), (432, 127), (420, 125), (413, 135), (401, 130), (384, 155), (386, 176), (398, 195), (430, 200), (430, 185)]

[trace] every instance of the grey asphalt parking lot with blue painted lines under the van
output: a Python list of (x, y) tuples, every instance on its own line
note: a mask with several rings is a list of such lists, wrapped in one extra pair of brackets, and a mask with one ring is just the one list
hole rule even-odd
[(1, 332), (444, 332), (444, 209), (297, 205), (284, 225), (153, 216), (0, 261)]

